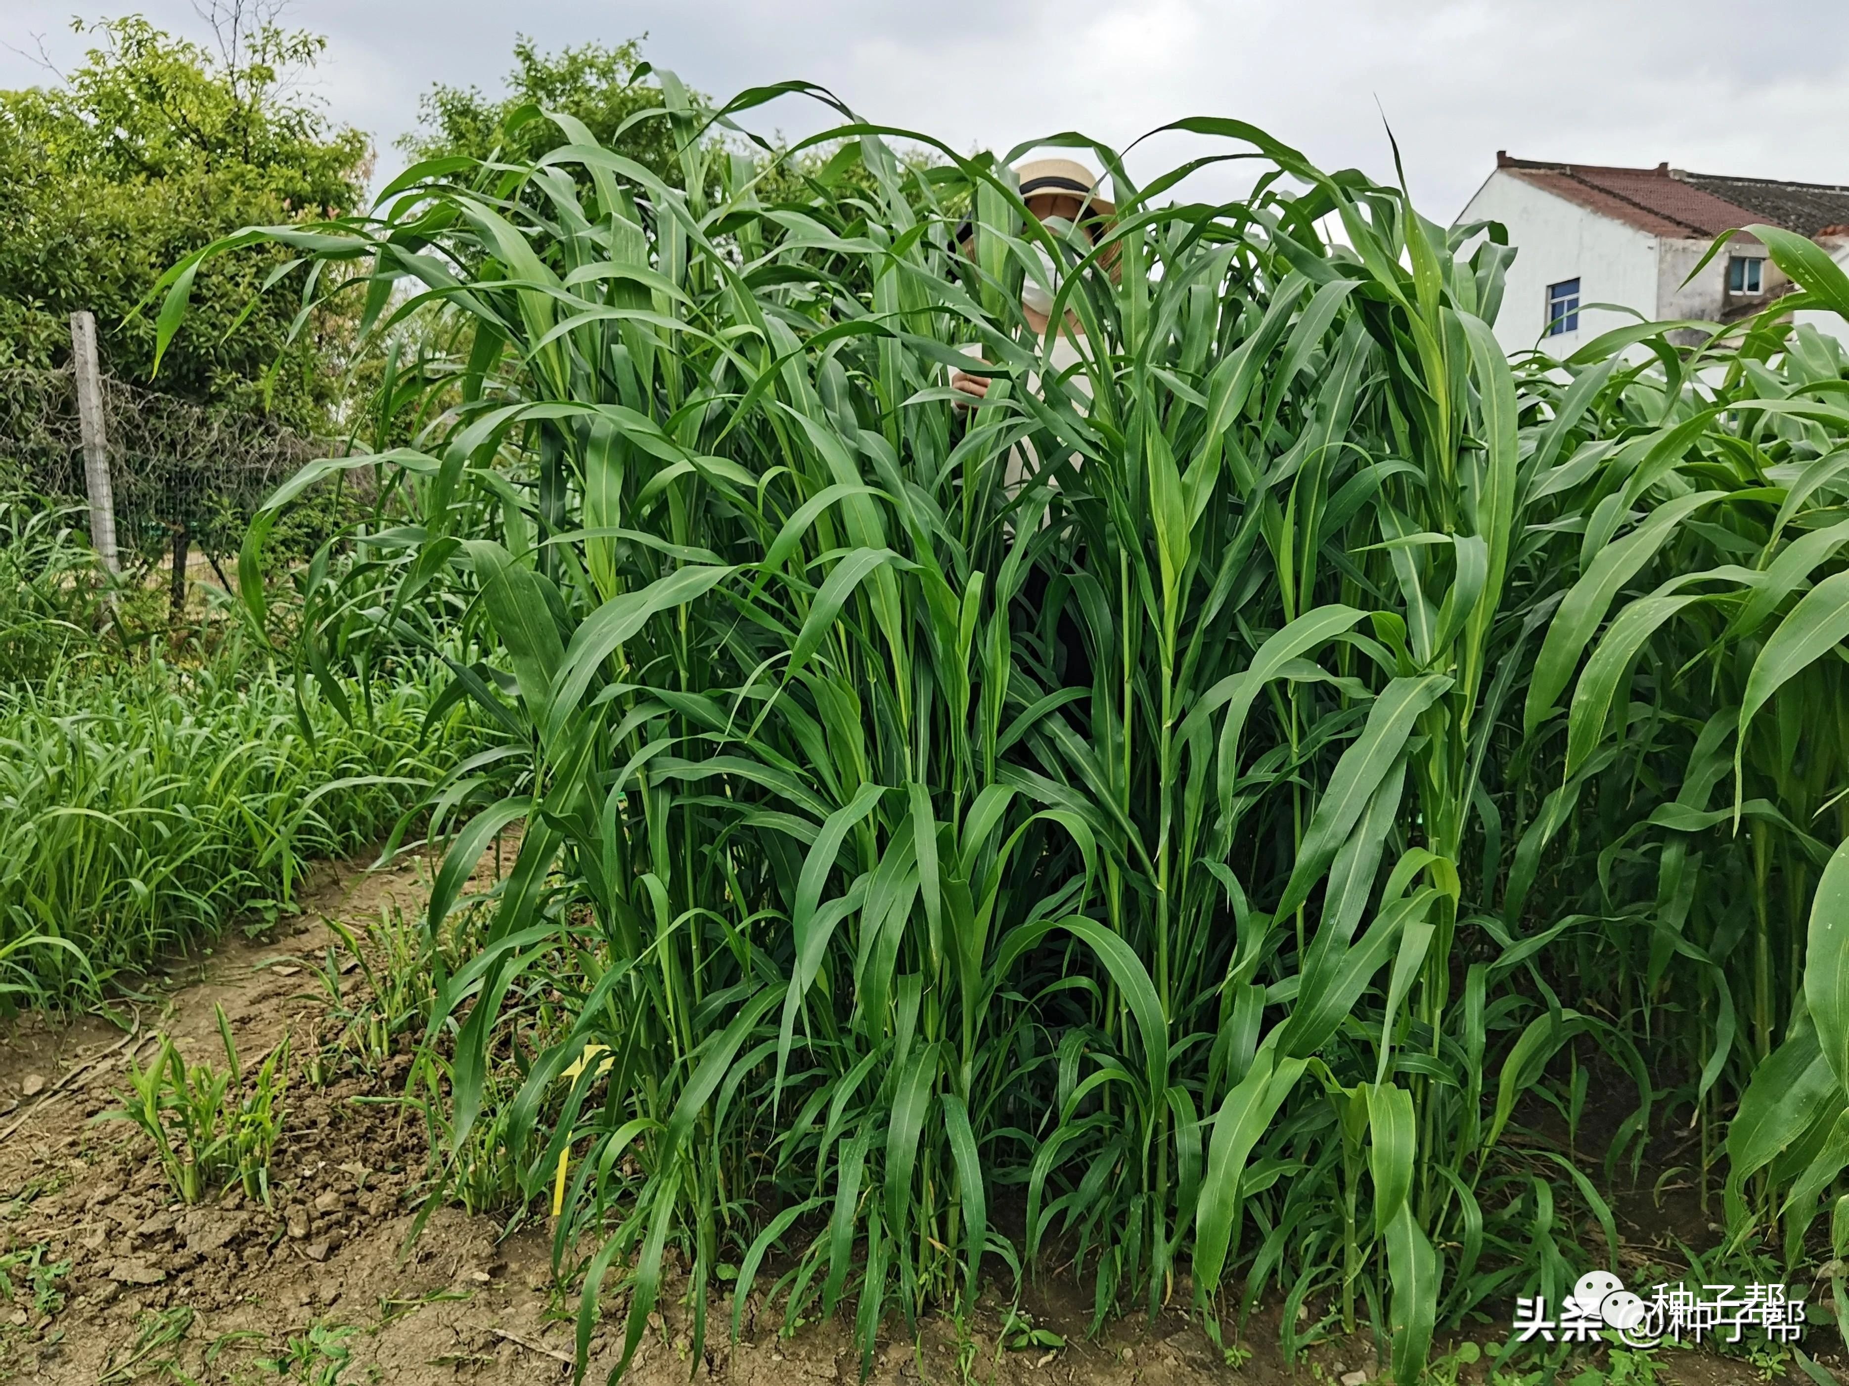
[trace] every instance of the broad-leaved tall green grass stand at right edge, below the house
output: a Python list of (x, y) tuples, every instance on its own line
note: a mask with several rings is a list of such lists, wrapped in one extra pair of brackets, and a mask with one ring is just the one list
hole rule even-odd
[[(1797, 294), (1727, 333), (1673, 325), (1692, 346), (1647, 325), (1527, 371), (1561, 440), (1531, 484), (1579, 540), (1522, 713), (1505, 922), (1572, 920), (1555, 967), (1649, 1048), (1703, 1205), (1725, 1146), (1729, 1251), (1782, 1223), (1797, 1270), (1849, 1166), (1849, 360), (1786, 314), (1849, 314), (1849, 279), (1751, 231)], [(1570, 1040), (1549, 1018), (1529, 1061)], [(1625, 1148), (1636, 1172), (1642, 1135), (1607, 1173)]]

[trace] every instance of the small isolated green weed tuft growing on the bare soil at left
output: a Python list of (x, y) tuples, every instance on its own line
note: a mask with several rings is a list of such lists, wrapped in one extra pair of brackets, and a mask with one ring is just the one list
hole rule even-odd
[(270, 1050), (257, 1076), (246, 1085), (231, 1039), (231, 1024), (218, 1007), (224, 1040), (224, 1072), (211, 1064), (187, 1064), (172, 1037), (148, 1068), (129, 1063), (129, 1092), (122, 1109), (98, 1120), (131, 1122), (141, 1127), (161, 1159), (168, 1186), (187, 1203), (198, 1203), (231, 1179), (248, 1198), (270, 1201), (270, 1153), (283, 1129), (283, 1094), (288, 1085), (288, 1037)]

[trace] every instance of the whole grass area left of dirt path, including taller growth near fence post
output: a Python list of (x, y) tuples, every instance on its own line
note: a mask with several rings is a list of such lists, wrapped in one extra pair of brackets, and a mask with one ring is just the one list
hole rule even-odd
[(307, 865), (385, 841), (473, 748), (433, 660), (324, 684), (222, 619), (150, 630), (76, 512), (0, 479), (0, 1005), (288, 911)]

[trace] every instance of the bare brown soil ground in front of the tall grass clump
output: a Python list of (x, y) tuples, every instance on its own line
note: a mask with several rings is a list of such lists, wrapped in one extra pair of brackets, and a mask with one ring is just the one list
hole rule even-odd
[[(427, 880), (418, 859), (390, 872), (329, 869), (307, 893), (301, 920), (279, 937), (229, 937), (172, 963), (122, 1027), (98, 1016), (28, 1016), (0, 1031), (0, 1270), (11, 1266), (0, 1283), (0, 1380), (510, 1386), (569, 1377), (575, 1297), (553, 1288), (544, 1229), (503, 1234), (492, 1218), (440, 1209), (410, 1240), (425, 1137), (422, 1116), (388, 1101), (401, 1068), (370, 1085), (292, 1081), (270, 1207), (239, 1192), (192, 1209), (174, 1203), (142, 1137), (92, 1120), (116, 1105), (129, 1057), (146, 1063), (157, 1031), (189, 1057), (218, 1059), (216, 1005), (246, 1057), (285, 1033), (305, 1039), (322, 1013), (307, 989), (331, 941), (322, 920), (364, 920), (392, 904), (418, 909)], [(677, 1286), (666, 1286), (666, 1312), (632, 1368), (643, 1386), (860, 1379), (845, 1325), (782, 1338), (780, 1314), (747, 1319), (736, 1347), (716, 1316), (693, 1362), (677, 1301)], [(1252, 1325), (1254, 1351), (1233, 1368), (1180, 1314), (1154, 1323), (1133, 1316), (1085, 1342), (1076, 1295), (1045, 1286), (1028, 1307), (1065, 1347), (1004, 1351), (991, 1303), (967, 1336), (936, 1319), (913, 1343), (902, 1323), (889, 1323), (873, 1380), (1337, 1386), (1346, 1377), (1359, 1386), (1363, 1373), (1378, 1373), (1372, 1343), (1361, 1340), (1322, 1343), (1289, 1366), (1274, 1323)], [(605, 1307), (592, 1380), (621, 1351), (621, 1308)], [(1688, 1355), (1666, 1356), (1660, 1377), (1688, 1386), (1758, 1380), (1738, 1362)]]

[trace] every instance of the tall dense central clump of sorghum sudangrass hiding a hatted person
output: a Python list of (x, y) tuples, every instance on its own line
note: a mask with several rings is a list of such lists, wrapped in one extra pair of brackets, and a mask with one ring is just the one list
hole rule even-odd
[[(1636, 1092), (1609, 1172), (1655, 1077), (1573, 974), (1627, 926), (1535, 893), (1586, 889), (1605, 841), (1559, 830), (1625, 793), (1616, 750), (1557, 793), (1548, 708), (1601, 684), (1551, 632), (1675, 523), (1664, 438), (1742, 399), (1605, 438), (1688, 388), (1660, 327), (1599, 351), (1660, 342), (1664, 384), (1518, 379), (1494, 227), (1239, 122), (1182, 124), (1265, 170), (1226, 203), (1176, 200), (1200, 164), (1139, 187), (1087, 144), (1117, 203), (1093, 242), (924, 137), (939, 163), (830, 131), (771, 205), (790, 179), (664, 118), (686, 192), (557, 116), (536, 163), (418, 164), (372, 216), (240, 233), (163, 309), (170, 334), (211, 255), (270, 238), (353, 270), (368, 325), (455, 325), (453, 368), (392, 395), (414, 442), (309, 468), (246, 567), (303, 488), (377, 466), (418, 525), (316, 588), (312, 658), (418, 621), (494, 650), (451, 665), (507, 737), (438, 800), (471, 817), (433, 937), (525, 828), (431, 1037), (451, 1149), (497, 1124), (560, 1210), (581, 1351), (619, 1266), (627, 1364), (669, 1244), (695, 1353), (717, 1266), (736, 1332), (780, 1247), (788, 1319), (852, 1301), (863, 1368), (893, 1308), (1052, 1238), (1100, 1318), (1185, 1268), (1218, 1332), (1243, 1273), (1235, 1308), (1280, 1294), (1292, 1342), (1311, 1303), (1370, 1323), (1405, 1382), (1437, 1323), (1559, 1299), (1572, 1227), (1618, 1234), (1520, 1124), (1598, 1059)], [(1026, 277), (1071, 314), (1065, 371)], [(950, 366), (991, 377), (980, 407)]]

